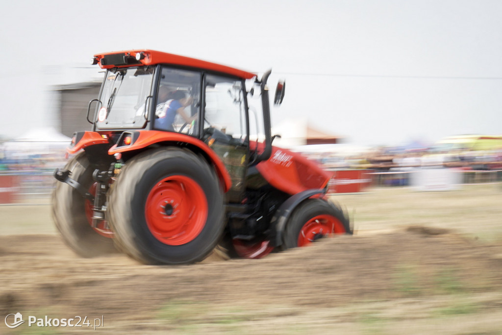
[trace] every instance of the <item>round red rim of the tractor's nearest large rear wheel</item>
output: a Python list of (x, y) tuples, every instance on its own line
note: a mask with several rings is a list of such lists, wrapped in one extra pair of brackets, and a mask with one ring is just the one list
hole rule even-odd
[(168, 245), (194, 240), (204, 228), (207, 212), (207, 199), (199, 184), (179, 175), (155, 184), (145, 205), (148, 229)]

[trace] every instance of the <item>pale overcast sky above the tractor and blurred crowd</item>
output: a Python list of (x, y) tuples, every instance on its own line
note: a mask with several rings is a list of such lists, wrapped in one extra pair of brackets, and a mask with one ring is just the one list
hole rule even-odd
[(275, 124), (350, 143), (502, 134), (501, 18), (500, 0), (3, 2), (0, 135), (57, 125), (51, 87), (133, 48), (272, 68), (287, 82)]

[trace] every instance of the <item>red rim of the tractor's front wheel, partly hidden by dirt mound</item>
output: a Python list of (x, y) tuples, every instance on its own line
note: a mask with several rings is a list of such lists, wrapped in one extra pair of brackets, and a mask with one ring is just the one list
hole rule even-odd
[(340, 220), (331, 215), (318, 215), (303, 225), (298, 234), (298, 246), (308, 245), (322, 236), (343, 233), (345, 228)]

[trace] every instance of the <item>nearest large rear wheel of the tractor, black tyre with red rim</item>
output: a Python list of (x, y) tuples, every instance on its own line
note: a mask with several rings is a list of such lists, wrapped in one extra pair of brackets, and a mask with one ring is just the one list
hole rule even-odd
[(218, 242), (223, 191), (193, 152), (158, 148), (123, 166), (109, 194), (109, 221), (123, 252), (146, 264), (201, 261)]

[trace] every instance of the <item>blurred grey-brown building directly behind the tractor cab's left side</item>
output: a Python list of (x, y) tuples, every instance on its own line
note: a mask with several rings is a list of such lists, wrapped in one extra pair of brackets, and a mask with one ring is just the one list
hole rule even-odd
[[(59, 93), (59, 111), (57, 118), (60, 121), (59, 131), (72, 136), (75, 131), (90, 130), (91, 124), (87, 122), (87, 107), (89, 101), (96, 99), (99, 94), (101, 82), (84, 82), (78, 84), (61, 85), (55, 88)], [(91, 105), (91, 116), (96, 104)]]

